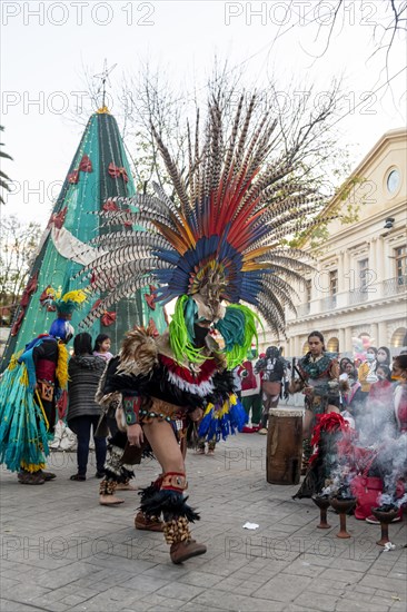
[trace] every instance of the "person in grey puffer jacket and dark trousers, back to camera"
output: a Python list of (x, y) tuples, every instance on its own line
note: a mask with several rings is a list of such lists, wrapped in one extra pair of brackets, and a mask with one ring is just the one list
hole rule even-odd
[(73, 356), (68, 366), (68, 426), (78, 436), (78, 472), (71, 481), (86, 481), (90, 430), (93, 428), (95, 452), (97, 472), (96, 477), (105, 475), (106, 437), (95, 435), (99, 417), (100, 406), (95, 401), (100, 377), (103, 373), (106, 361), (92, 355), (92, 338), (90, 334), (78, 334), (73, 339)]

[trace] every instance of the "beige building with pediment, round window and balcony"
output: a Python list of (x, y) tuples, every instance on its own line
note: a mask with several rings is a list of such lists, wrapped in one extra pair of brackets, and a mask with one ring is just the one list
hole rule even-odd
[[(307, 351), (309, 332), (318, 329), (328, 351), (350, 353), (353, 337), (369, 335), (374, 346), (398, 354), (407, 344), (407, 131), (386, 132), (354, 170), (356, 182), (341, 205), (360, 205), (358, 220), (329, 224), (329, 238), (314, 250), (318, 264), (299, 292), (297, 315), (287, 313), (287, 337), (261, 338), (278, 344), (287, 357)], [(336, 208), (334, 198), (328, 210)], [(312, 253), (309, 245), (302, 246)], [(264, 342), (265, 340), (265, 342)]]

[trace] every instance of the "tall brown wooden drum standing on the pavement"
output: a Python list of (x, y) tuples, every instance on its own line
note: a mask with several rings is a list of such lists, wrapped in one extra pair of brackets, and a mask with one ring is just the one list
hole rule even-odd
[(267, 482), (298, 484), (302, 458), (302, 411), (271, 408), (267, 434)]

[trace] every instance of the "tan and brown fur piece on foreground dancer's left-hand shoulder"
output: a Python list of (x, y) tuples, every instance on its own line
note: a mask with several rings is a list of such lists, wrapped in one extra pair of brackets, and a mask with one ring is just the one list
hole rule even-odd
[(149, 328), (136, 327), (126, 334), (119, 355), (118, 374), (146, 376), (158, 365), (156, 337)]

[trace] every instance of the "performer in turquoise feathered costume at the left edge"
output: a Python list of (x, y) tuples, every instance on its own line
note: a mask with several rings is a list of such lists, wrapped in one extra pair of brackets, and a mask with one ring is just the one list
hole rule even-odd
[(67, 343), (73, 336), (72, 312), (86, 299), (82, 290), (48, 289), (42, 305), (58, 318), (49, 334), (40, 334), (11, 357), (0, 381), (0, 461), (18, 471), (21, 484), (43, 484), (56, 477), (44, 472), (48, 442), (57, 419), (56, 404), (68, 383)]

